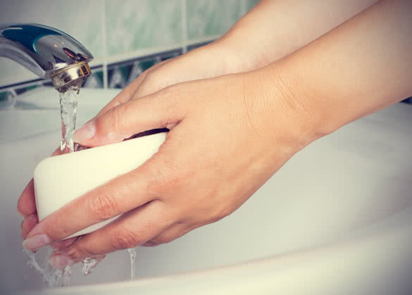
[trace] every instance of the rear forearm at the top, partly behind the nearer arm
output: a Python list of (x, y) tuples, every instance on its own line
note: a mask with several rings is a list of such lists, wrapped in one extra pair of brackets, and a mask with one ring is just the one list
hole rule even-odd
[(231, 53), (233, 67), (240, 62), (241, 71), (254, 70), (291, 54), (376, 1), (262, 0), (217, 43)]

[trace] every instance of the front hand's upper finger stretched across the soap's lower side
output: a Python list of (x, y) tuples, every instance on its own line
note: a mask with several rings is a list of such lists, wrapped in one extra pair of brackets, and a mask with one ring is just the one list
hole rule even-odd
[(48, 215), (27, 235), (23, 241), (25, 249), (39, 249), (156, 199), (152, 184), (156, 177), (151, 168), (153, 159)]

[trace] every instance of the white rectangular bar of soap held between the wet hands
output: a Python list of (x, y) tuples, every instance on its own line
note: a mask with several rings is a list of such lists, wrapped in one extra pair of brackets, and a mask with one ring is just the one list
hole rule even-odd
[[(45, 158), (37, 165), (34, 177), (39, 220), (82, 194), (142, 165), (165, 140), (166, 132), (162, 132)], [(87, 227), (70, 237), (94, 232), (116, 218), (118, 216)]]

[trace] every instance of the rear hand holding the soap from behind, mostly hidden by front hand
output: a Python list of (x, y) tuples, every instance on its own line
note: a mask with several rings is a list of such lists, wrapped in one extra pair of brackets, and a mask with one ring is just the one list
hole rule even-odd
[[(218, 40), (217, 42), (189, 51), (182, 56), (157, 63), (148, 70), (145, 70), (135, 81), (125, 87), (94, 118), (103, 115), (111, 108), (130, 99), (152, 94), (172, 84), (250, 70), (250, 64), (245, 63), (242, 58), (237, 58), (236, 54), (225, 46), (225, 42)], [(52, 156), (58, 154), (61, 154), (59, 148), (56, 149)], [(30, 230), (39, 222), (33, 180), (30, 180), (18, 199), (18, 213), (25, 218), (20, 226), (21, 236), (25, 239)], [(65, 248), (75, 240), (76, 238), (58, 241), (52, 246), (55, 249)]]

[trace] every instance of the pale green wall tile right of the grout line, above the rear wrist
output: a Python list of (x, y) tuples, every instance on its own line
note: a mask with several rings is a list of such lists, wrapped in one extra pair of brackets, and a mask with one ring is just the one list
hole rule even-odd
[(187, 35), (223, 34), (242, 16), (242, 0), (187, 0)]

